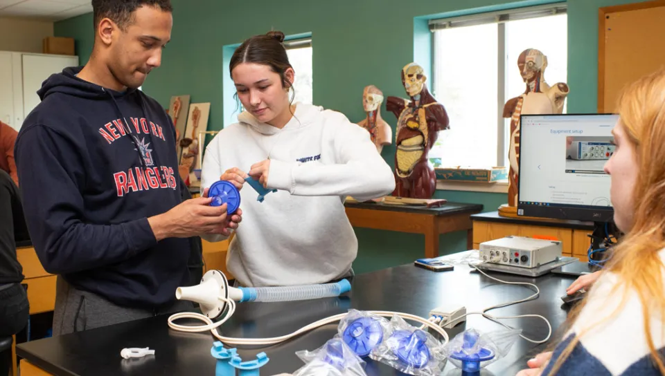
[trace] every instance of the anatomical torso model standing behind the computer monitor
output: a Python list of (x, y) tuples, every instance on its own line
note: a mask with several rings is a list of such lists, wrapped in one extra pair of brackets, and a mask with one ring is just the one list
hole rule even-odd
[(547, 57), (539, 50), (529, 48), (522, 51), (517, 59), (517, 66), (526, 83), (526, 91), (519, 97), (508, 100), (504, 106), (504, 118), (511, 118), (511, 147), (508, 151), (508, 160), (511, 164), (508, 173), (508, 207), (512, 209), (503, 207), (502, 209), (506, 212), (515, 212), (517, 205), (517, 182), (519, 182), (520, 176), (520, 115), (562, 113), (569, 91), (567, 84), (558, 83), (549, 86), (545, 82)]

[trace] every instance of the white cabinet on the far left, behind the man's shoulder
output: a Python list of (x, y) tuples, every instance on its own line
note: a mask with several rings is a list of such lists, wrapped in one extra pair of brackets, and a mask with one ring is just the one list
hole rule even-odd
[(0, 51), (0, 121), (18, 131), (39, 104), (44, 80), (78, 64), (78, 56)]

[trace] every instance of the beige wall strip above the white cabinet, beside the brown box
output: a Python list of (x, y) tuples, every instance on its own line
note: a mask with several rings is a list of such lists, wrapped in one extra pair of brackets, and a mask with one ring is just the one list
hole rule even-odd
[(53, 22), (0, 17), (0, 51), (42, 53), (42, 40), (53, 37)]

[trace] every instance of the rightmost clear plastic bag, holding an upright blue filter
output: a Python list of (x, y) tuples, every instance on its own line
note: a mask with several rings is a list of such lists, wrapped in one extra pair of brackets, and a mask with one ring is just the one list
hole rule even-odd
[(486, 333), (467, 329), (445, 346), (444, 354), (450, 363), (460, 368), (461, 375), (479, 375), (483, 368), (508, 355), (520, 334), (520, 329)]

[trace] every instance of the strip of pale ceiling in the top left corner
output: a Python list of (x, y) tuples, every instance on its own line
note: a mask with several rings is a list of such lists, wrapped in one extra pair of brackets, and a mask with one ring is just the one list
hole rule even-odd
[(0, 17), (60, 21), (89, 12), (90, 0), (0, 0)]

